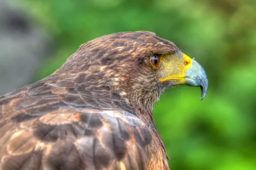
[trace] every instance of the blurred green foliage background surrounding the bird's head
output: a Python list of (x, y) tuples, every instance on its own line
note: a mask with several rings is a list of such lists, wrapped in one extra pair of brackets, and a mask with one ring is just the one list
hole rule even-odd
[(52, 36), (55, 51), (34, 81), (84, 42), (119, 31), (153, 31), (198, 61), (200, 88), (166, 91), (154, 119), (172, 170), (256, 170), (255, 0), (20, 0), (15, 5)]

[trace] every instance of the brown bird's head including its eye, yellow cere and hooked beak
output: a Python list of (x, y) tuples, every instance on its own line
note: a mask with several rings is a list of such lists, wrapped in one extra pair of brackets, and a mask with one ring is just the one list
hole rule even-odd
[(208, 80), (204, 68), (168, 40), (148, 31), (120, 32), (80, 46), (57, 73), (75, 74), (84, 87), (109, 87), (136, 112), (151, 113), (168, 88), (190, 85), (201, 88)]

